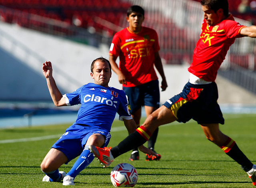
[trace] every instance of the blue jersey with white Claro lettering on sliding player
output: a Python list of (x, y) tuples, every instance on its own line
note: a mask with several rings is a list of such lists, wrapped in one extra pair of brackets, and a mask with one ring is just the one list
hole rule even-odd
[(123, 90), (88, 83), (72, 93), (65, 94), (64, 98), (68, 106), (81, 104), (74, 124), (85, 124), (110, 131), (116, 112), (121, 121), (132, 119)]

